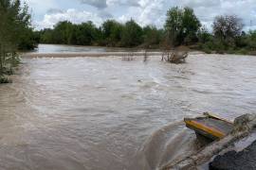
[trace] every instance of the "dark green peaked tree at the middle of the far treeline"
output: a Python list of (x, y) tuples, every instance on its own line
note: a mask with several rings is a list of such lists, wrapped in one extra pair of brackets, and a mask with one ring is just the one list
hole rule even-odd
[(143, 31), (134, 20), (125, 24), (121, 34), (121, 45), (127, 47), (134, 47), (143, 42)]

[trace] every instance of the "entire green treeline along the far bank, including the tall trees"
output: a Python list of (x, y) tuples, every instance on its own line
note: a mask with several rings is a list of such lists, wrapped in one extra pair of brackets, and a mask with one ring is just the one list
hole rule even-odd
[(245, 32), (243, 26), (237, 16), (216, 16), (209, 31), (201, 25), (192, 8), (170, 8), (160, 29), (139, 26), (132, 19), (125, 24), (108, 20), (99, 27), (92, 22), (75, 25), (64, 21), (53, 29), (34, 32), (34, 37), (41, 43), (144, 48), (189, 45), (209, 53), (256, 51), (256, 31)]

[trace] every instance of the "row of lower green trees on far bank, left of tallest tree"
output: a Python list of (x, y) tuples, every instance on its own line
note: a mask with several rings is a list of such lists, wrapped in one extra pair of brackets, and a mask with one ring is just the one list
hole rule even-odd
[(120, 24), (115, 20), (108, 20), (100, 27), (92, 22), (74, 25), (64, 21), (53, 29), (36, 32), (39, 42), (62, 43), (76, 45), (102, 45), (135, 47), (138, 45), (155, 46), (164, 37), (164, 30), (155, 26), (141, 27), (134, 20)]

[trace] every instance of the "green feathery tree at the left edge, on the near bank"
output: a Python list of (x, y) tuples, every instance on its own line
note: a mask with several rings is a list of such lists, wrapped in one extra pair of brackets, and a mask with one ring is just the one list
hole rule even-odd
[[(27, 5), (21, 5), (20, 0), (0, 0), (0, 76), (9, 56), (16, 58), (16, 51), (21, 43), (27, 42), (25, 35), (31, 33), (30, 14)], [(31, 44), (31, 42), (27, 42)]]

